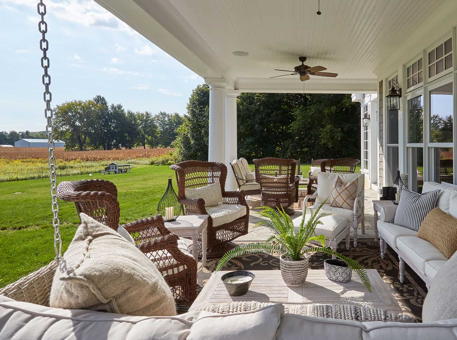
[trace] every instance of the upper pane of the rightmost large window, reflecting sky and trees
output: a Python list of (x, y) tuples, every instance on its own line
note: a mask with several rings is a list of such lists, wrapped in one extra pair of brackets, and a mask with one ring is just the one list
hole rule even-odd
[(452, 83), (430, 91), (430, 143), (452, 143)]

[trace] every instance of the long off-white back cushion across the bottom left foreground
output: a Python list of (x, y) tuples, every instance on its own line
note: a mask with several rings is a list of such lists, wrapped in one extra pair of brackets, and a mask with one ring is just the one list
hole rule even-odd
[(273, 340), (282, 311), (282, 305), (276, 303), (233, 314), (199, 311), (146, 317), (3, 302), (0, 339)]

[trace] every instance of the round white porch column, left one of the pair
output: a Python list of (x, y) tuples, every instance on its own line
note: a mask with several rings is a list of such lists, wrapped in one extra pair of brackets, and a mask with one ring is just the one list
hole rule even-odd
[(209, 85), (209, 162), (225, 162), (225, 79), (206, 79)]

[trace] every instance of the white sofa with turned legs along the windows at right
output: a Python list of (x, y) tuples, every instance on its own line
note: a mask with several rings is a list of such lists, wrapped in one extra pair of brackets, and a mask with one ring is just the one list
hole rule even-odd
[[(422, 192), (440, 189), (436, 206), (457, 218), (457, 187), (446, 183), (425, 182)], [(400, 282), (404, 282), (405, 263), (424, 280), (427, 288), (436, 272), (446, 263), (446, 256), (430, 242), (417, 237), (417, 231), (390, 223), (395, 217), (397, 206), (384, 206), (379, 211), (377, 229), (381, 247), (381, 257), (389, 245), (399, 255)]]

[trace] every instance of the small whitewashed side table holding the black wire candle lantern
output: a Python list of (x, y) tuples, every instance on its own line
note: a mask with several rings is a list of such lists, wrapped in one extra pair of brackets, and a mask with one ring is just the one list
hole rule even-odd
[(181, 237), (192, 239), (192, 256), (198, 264), (198, 235), (202, 233), (202, 264), (206, 266), (208, 215), (183, 215), (173, 222), (165, 222), (165, 227)]

